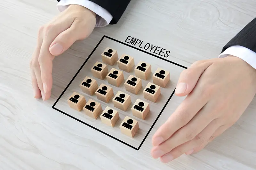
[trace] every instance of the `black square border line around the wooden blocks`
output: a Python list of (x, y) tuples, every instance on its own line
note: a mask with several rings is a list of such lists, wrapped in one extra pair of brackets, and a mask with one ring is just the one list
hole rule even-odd
[(58, 103), (58, 101), (59, 101), (60, 98), (63, 96), (63, 94), (65, 93), (65, 91), (68, 89), (68, 87), (70, 86), (70, 84), (72, 83), (72, 81), (74, 81), (74, 79), (76, 78), (77, 74), (81, 71), (81, 69), (84, 67), (85, 63), (89, 60), (89, 58), (92, 56), (92, 54), (93, 54), (94, 51), (98, 48), (98, 46), (100, 45), (100, 43), (102, 42), (102, 40), (103, 40), (104, 38), (108, 38), (108, 39), (110, 39), (110, 40), (113, 40), (113, 41), (116, 41), (116, 42), (118, 42), (118, 43), (121, 43), (121, 44), (123, 44), (123, 45), (125, 45), (125, 46), (129, 46), (129, 47), (131, 47), (131, 48), (133, 48), (133, 49), (136, 49), (136, 50), (139, 50), (139, 51), (141, 51), (141, 52), (143, 52), (143, 53), (147, 53), (147, 54), (149, 54), (149, 55), (152, 55), (152, 56), (154, 56), (154, 57), (156, 57), (156, 58), (158, 58), (158, 59), (161, 59), (161, 60), (167, 61), (167, 62), (169, 62), (169, 63), (172, 63), (172, 64), (174, 64), (174, 65), (176, 65), (176, 66), (179, 66), (179, 67), (182, 67), (182, 68), (185, 68), (185, 69), (187, 69), (187, 67), (182, 66), (182, 65), (180, 65), (180, 64), (177, 64), (177, 63), (175, 63), (175, 62), (166, 60), (166, 59), (161, 58), (161, 57), (159, 57), (159, 56), (157, 56), (157, 55), (155, 55), (155, 54), (149, 53), (149, 52), (144, 51), (144, 50), (142, 50), (142, 49), (139, 49), (139, 48), (137, 48), (137, 47), (135, 47), (135, 46), (131, 46), (131, 45), (126, 44), (126, 43), (124, 43), (124, 42), (122, 42), (122, 41), (119, 41), (119, 40), (116, 40), (116, 39), (113, 39), (113, 38), (111, 38), (111, 37), (108, 37), (108, 36), (104, 35), (104, 36), (100, 39), (100, 41), (98, 42), (98, 44), (94, 47), (94, 49), (92, 50), (92, 53), (89, 55), (89, 57), (84, 61), (84, 63), (82, 64), (82, 66), (81, 66), (81, 67), (79, 68), (79, 70), (76, 72), (76, 74), (75, 74), (74, 77), (71, 79), (71, 81), (68, 83), (67, 87), (66, 87), (66, 88), (63, 90), (63, 92), (60, 94), (60, 96), (58, 97), (58, 99), (56, 100), (56, 102), (52, 105), (52, 109), (57, 110), (57, 111), (59, 111), (60, 113), (63, 113), (64, 115), (67, 115), (68, 117), (71, 117), (71, 118), (77, 120), (78, 122), (81, 122), (82, 124), (85, 124), (85, 125), (91, 127), (92, 129), (94, 129), (94, 130), (96, 130), (96, 131), (99, 131), (99, 132), (101, 132), (101, 133), (107, 135), (108, 137), (113, 138), (113, 139), (115, 139), (115, 140), (117, 140), (117, 141), (123, 143), (124, 145), (130, 146), (131, 148), (133, 148), (133, 149), (135, 149), (135, 150), (138, 151), (138, 150), (140, 149), (140, 147), (142, 146), (142, 144), (144, 143), (144, 141), (146, 140), (146, 138), (148, 137), (150, 131), (153, 129), (153, 127), (154, 127), (154, 125), (156, 124), (157, 120), (159, 119), (159, 117), (160, 117), (161, 114), (163, 113), (165, 107), (167, 106), (167, 104), (168, 104), (169, 101), (171, 100), (172, 96), (174, 95), (174, 92), (175, 92), (175, 89), (176, 89), (176, 88), (173, 90), (172, 95), (169, 97), (169, 99), (168, 99), (167, 102), (165, 103), (163, 109), (161, 110), (161, 112), (159, 113), (159, 115), (156, 117), (156, 120), (154, 121), (154, 123), (152, 124), (152, 126), (150, 127), (150, 129), (148, 130), (148, 133), (146, 134), (146, 136), (144, 137), (144, 139), (142, 140), (142, 142), (140, 143), (140, 145), (139, 145), (138, 148), (136, 148), (136, 147), (134, 147), (134, 146), (132, 146), (132, 145), (130, 145), (130, 144), (127, 144), (127, 143), (125, 143), (124, 141), (122, 141), (122, 140), (120, 140), (120, 139), (117, 139), (117, 138), (115, 138), (114, 136), (111, 136), (111, 135), (109, 135), (108, 133), (106, 133), (106, 132), (104, 132), (104, 131), (101, 131), (101, 130), (97, 129), (97, 128), (93, 127), (92, 125), (87, 124), (87, 123), (85, 123), (85, 122), (83, 122), (83, 121), (77, 119), (76, 117), (73, 117), (73, 116), (71, 116), (71, 115), (69, 115), (69, 114), (63, 112), (62, 110), (59, 110), (59, 109), (55, 108), (55, 105)]

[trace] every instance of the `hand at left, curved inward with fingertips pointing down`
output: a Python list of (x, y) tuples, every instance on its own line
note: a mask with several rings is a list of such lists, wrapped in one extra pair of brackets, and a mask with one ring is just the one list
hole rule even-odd
[(70, 5), (38, 32), (37, 47), (30, 61), (34, 97), (47, 100), (52, 89), (52, 60), (76, 40), (87, 38), (96, 25), (96, 14), (80, 5)]

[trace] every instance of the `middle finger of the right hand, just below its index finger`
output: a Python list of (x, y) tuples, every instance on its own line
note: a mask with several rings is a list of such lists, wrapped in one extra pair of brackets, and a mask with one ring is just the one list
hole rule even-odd
[[(158, 158), (175, 147), (194, 139), (212, 120), (216, 119), (211, 105), (207, 103), (185, 126), (170, 138), (152, 149), (153, 158)], [(216, 114), (217, 115), (217, 114)], [(213, 121), (215, 122), (215, 121)]]

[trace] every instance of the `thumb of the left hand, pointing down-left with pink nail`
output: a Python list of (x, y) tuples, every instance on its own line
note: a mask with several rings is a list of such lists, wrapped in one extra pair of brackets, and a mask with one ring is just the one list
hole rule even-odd
[(84, 32), (79, 31), (75, 25), (71, 25), (67, 30), (61, 32), (50, 45), (49, 51), (52, 55), (58, 56), (64, 53), (72, 44), (83, 39)]

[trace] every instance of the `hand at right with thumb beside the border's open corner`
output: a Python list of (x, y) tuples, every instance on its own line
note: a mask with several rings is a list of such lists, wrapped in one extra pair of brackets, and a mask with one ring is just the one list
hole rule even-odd
[(152, 138), (153, 158), (167, 163), (200, 151), (243, 114), (256, 93), (256, 70), (234, 56), (197, 61), (175, 90), (188, 95)]

